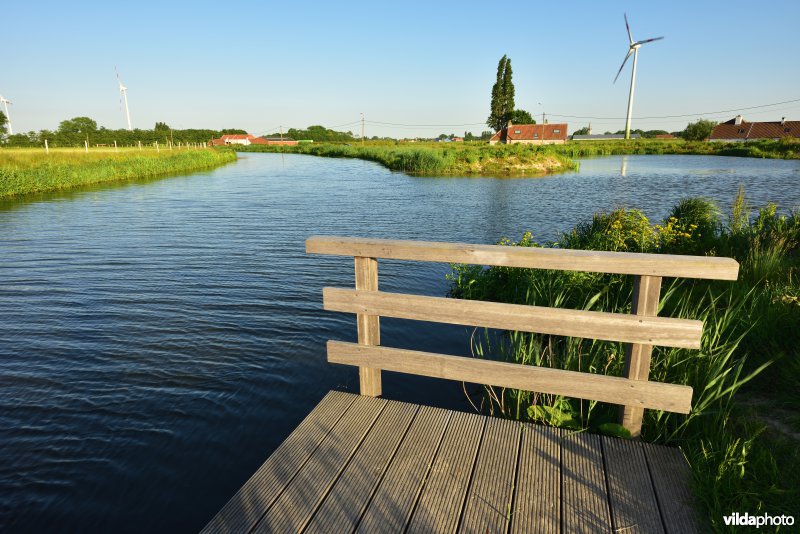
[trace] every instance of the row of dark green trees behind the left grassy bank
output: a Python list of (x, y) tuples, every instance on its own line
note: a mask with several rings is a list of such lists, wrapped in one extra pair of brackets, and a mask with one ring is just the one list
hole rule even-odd
[[(5, 116), (0, 120), (4, 122)], [(30, 131), (7, 135), (3, 139), (3, 145), (7, 147), (36, 147), (47, 144), (53, 148), (63, 147), (82, 147), (84, 143), (89, 146), (106, 145), (113, 146), (114, 142), (118, 146), (135, 146), (140, 142), (143, 145), (151, 145), (155, 142), (162, 144), (184, 144), (184, 143), (207, 143), (209, 140), (220, 137), (224, 134), (246, 134), (247, 132), (238, 128), (227, 128), (223, 130), (207, 129), (173, 129), (164, 122), (157, 122), (152, 130), (112, 130), (103, 126), (98, 127), (97, 122), (89, 117), (74, 117), (61, 121), (56, 130)]]

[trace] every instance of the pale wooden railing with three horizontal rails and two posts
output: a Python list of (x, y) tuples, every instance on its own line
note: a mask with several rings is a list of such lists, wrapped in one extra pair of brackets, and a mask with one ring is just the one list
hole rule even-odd
[[(650, 382), (654, 345), (700, 348), (701, 321), (657, 317), (662, 277), (736, 280), (730, 258), (310, 237), (310, 254), (355, 258), (355, 290), (323, 289), (326, 310), (355, 313), (358, 343), (328, 342), (328, 361), (359, 367), (362, 395), (381, 394), (381, 370), (619, 404), (638, 436), (645, 408), (689, 413), (692, 388)], [(631, 314), (424, 297), (378, 290), (378, 258), (629, 274)], [(614, 377), (380, 346), (380, 317), (396, 317), (627, 343), (625, 376)]]

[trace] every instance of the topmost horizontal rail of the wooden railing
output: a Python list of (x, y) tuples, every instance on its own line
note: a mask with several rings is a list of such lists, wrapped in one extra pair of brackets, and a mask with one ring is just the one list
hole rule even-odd
[(739, 264), (732, 258), (358, 237), (311, 236), (306, 240), (306, 252), (335, 256), (709, 280), (736, 280), (739, 275)]

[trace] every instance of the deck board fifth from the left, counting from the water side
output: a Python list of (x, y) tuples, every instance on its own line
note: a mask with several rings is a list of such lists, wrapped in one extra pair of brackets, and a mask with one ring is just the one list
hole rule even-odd
[(406, 532), (455, 531), (485, 424), (477, 414), (453, 414)]

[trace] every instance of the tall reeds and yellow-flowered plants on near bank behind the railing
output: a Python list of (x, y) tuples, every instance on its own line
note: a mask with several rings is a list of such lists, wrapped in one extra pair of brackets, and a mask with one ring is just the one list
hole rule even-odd
[[(660, 224), (635, 209), (595, 215), (558, 243), (530, 233), (509, 246), (729, 256), (737, 282), (665, 279), (660, 315), (704, 321), (699, 351), (656, 347), (650, 377), (694, 388), (693, 411), (645, 411), (643, 437), (679, 445), (692, 468), (700, 517), (797, 513), (800, 486), (800, 212), (751, 213), (740, 191), (723, 221), (704, 199), (680, 202)], [(459, 298), (630, 313), (631, 277), (455, 265)], [(621, 343), (518, 332), (476, 336), (476, 357), (620, 375)], [(595, 402), (486, 387), (483, 410), (570, 429), (618, 434), (617, 410)]]

